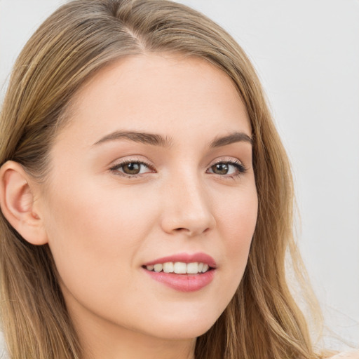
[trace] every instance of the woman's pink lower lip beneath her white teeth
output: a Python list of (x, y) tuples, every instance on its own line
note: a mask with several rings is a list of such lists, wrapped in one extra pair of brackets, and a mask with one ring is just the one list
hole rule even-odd
[(215, 276), (215, 269), (201, 274), (164, 273), (147, 271), (147, 269), (144, 269), (144, 271), (154, 280), (179, 292), (196, 292), (201, 290), (210, 284)]

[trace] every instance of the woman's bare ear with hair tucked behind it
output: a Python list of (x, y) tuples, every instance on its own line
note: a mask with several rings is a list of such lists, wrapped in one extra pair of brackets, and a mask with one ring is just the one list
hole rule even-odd
[(34, 180), (20, 163), (8, 161), (0, 168), (0, 207), (4, 216), (25, 241), (48, 243), (41, 213), (35, 201)]

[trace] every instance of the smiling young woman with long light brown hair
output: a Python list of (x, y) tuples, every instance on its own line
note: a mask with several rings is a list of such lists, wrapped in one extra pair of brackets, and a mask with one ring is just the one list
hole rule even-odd
[(62, 6), (22, 50), (0, 123), (10, 358), (323, 358), (285, 280), (288, 250), (305, 279), (285, 151), (208, 18)]

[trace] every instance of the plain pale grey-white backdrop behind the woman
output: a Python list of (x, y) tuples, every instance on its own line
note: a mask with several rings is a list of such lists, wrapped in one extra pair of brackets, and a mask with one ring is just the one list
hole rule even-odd
[[(0, 0), (0, 88), (65, 1)], [(248, 53), (292, 161), (298, 241), (327, 327), (359, 344), (359, 1), (183, 0)], [(327, 333), (332, 348), (344, 344)]]

